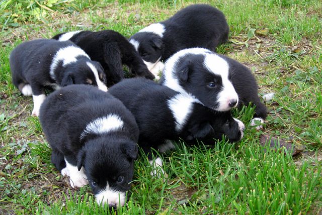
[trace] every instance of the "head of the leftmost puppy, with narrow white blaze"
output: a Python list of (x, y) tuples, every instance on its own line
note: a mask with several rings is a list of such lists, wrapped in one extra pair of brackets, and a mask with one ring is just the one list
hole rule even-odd
[(74, 63), (65, 65), (61, 86), (71, 84), (90, 84), (107, 91), (106, 75), (99, 62), (79, 58)]

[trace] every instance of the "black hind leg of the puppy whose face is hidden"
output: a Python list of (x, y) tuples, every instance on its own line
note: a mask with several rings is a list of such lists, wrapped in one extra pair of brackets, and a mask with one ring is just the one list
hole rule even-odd
[(113, 83), (117, 83), (124, 79), (124, 72), (122, 69), (122, 59), (121, 53), (116, 43), (106, 43), (104, 44), (104, 61), (109, 67), (110, 74)]

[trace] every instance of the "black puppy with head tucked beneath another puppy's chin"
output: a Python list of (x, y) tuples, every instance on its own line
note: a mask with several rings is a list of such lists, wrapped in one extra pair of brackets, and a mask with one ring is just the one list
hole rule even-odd
[[(182, 138), (189, 142), (195, 138), (221, 139), (226, 135), (230, 141), (237, 141), (244, 134), (244, 124), (233, 119), (230, 112), (213, 112), (194, 96), (151, 80), (125, 79), (113, 85), (109, 92), (134, 115), (140, 131), (138, 144), (150, 163), (151, 148), (163, 147), (166, 140)], [(162, 166), (160, 158), (155, 162)]]

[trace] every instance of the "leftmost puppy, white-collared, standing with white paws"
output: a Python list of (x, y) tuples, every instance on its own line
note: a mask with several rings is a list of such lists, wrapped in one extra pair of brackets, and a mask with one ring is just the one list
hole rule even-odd
[(13, 84), (32, 95), (32, 116), (39, 115), (45, 87), (57, 89), (70, 84), (92, 84), (107, 91), (106, 77), (100, 63), (92, 61), (70, 41), (32, 40), (18, 45), (10, 55)]

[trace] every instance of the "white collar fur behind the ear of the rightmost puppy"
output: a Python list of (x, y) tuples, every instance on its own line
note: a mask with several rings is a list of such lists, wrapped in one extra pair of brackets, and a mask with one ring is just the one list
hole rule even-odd
[(169, 88), (176, 90), (178, 92), (186, 92), (185, 89), (179, 84), (178, 77), (176, 76), (176, 65), (178, 60), (188, 54), (205, 54), (205, 52), (209, 52), (208, 49), (204, 48), (191, 48), (191, 49), (183, 49), (177, 53), (175, 53), (172, 57), (170, 57), (166, 63), (162, 73), (163, 79), (165, 80), (163, 85), (168, 86)]

